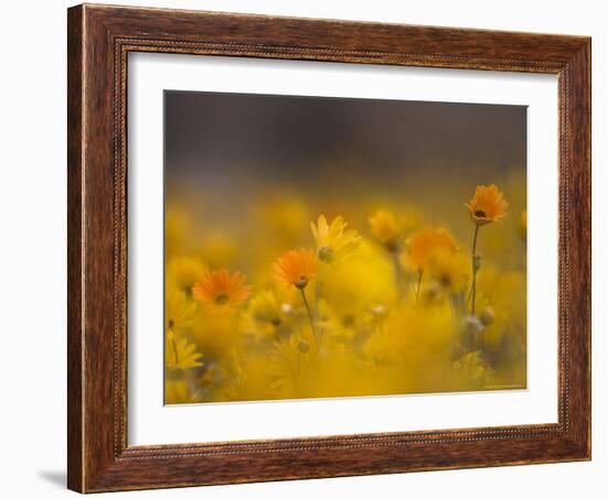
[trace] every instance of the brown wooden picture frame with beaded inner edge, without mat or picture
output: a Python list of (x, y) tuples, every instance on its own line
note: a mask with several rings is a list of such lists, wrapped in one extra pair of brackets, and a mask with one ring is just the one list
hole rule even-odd
[[(81, 492), (590, 458), (590, 39), (180, 10), (68, 10), (68, 487)], [(558, 76), (558, 422), (127, 444), (127, 55)], [(555, 138), (556, 140), (556, 138)]]

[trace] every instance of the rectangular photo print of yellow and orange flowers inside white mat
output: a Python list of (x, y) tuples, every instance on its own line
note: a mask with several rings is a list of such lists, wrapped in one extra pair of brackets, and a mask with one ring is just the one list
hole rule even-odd
[(164, 403), (526, 387), (526, 107), (164, 91)]

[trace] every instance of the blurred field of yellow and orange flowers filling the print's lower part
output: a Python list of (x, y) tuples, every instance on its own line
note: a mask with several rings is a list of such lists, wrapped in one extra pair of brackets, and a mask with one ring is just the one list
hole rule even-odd
[[(166, 403), (520, 389), (524, 181), (445, 205), (265, 195), (238, 235), (166, 216)], [(456, 237), (456, 234), (459, 237)]]

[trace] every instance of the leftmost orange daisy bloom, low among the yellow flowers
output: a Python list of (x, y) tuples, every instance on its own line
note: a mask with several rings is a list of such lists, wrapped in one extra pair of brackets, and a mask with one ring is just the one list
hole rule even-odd
[(246, 301), (251, 285), (245, 285), (246, 277), (239, 271), (234, 274), (225, 269), (206, 273), (192, 289), (194, 299), (215, 306), (231, 306)]

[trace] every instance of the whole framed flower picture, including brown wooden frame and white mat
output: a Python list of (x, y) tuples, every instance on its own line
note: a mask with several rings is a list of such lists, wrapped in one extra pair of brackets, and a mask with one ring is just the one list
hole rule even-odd
[(68, 487), (590, 458), (590, 40), (68, 10)]

